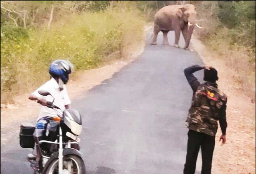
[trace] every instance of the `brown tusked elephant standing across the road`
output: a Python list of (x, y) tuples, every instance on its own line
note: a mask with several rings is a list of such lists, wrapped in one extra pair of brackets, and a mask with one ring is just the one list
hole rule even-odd
[(156, 12), (154, 17), (154, 31), (152, 45), (156, 45), (156, 39), (159, 31), (163, 32), (163, 45), (169, 45), (167, 33), (171, 30), (175, 32), (174, 47), (180, 48), (180, 34), (185, 39), (184, 49), (189, 49), (194, 26), (201, 28), (196, 23), (196, 8), (193, 4), (168, 5)]

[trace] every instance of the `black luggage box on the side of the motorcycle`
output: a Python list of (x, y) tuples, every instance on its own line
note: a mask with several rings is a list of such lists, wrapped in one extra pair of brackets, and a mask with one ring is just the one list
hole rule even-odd
[(31, 123), (21, 123), (20, 125), (20, 146), (23, 148), (34, 148), (34, 133), (35, 126)]

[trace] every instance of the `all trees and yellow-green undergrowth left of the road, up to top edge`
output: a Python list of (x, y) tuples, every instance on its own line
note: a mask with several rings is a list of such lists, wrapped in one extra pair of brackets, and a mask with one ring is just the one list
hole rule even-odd
[[(101, 65), (113, 52), (122, 54), (124, 47), (141, 42), (144, 19), (136, 5), (115, 2), (110, 8), (108, 4), (1, 1), (1, 13), (5, 14), (1, 15), (1, 102), (44, 83), (54, 59), (70, 60), (76, 71), (90, 69)], [(25, 25), (22, 8), (27, 11)], [(16, 22), (10, 15), (18, 18)]]

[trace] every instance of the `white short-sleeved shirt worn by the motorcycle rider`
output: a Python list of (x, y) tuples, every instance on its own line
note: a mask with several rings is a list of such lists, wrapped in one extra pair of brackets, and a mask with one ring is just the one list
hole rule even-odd
[[(40, 90), (45, 90), (45, 91), (50, 92), (50, 94), (55, 99), (53, 104), (58, 106), (62, 111), (65, 110), (65, 105), (69, 105), (71, 103), (71, 101), (68, 97), (66, 86), (63, 85), (63, 90), (60, 91), (59, 90), (59, 84), (56, 82), (56, 80), (54, 78), (51, 78), (51, 80), (44, 83), (42, 86), (40, 86), (37, 90), (35, 90), (32, 93), (37, 97), (41, 97), (41, 98), (44, 98), (46, 101), (52, 102), (53, 97), (51, 95), (47, 95), (47, 96), (40, 95), (38, 93), (38, 91), (40, 91)], [(48, 108), (47, 106), (42, 106), (41, 105), (40, 113), (39, 113), (39, 116), (38, 116), (37, 120), (42, 118), (42, 117), (46, 117), (46, 116), (56, 117), (57, 116), (56, 111), (54, 109)]]

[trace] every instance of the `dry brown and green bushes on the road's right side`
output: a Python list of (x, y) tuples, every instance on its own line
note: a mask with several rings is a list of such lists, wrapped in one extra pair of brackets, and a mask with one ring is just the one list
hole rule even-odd
[(237, 73), (241, 88), (255, 98), (255, 1), (196, 1), (198, 18), (205, 19), (194, 34)]

